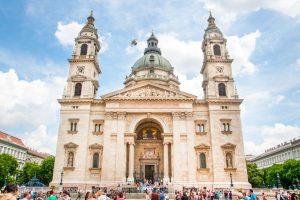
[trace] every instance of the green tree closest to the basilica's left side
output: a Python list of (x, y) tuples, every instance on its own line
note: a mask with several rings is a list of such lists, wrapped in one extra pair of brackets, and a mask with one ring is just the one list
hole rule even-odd
[(41, 164), (39, 178), (45, 185), (49, 185), (52, 180), (54, 160), (55, 158), (53, 156), (48, 156)]

